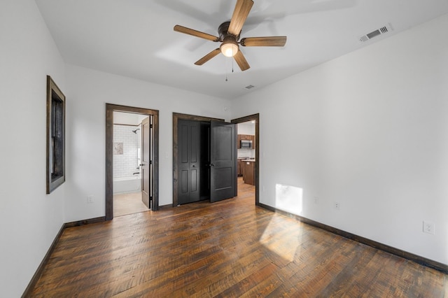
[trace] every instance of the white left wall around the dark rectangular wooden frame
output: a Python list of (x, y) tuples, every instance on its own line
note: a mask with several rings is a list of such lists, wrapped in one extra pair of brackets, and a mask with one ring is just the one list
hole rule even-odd
[(64, 223), (65, 185), (45, 194), (47, 75), (65, 91), (64, 63), (36, 3), (0, 1), (2, 297), (22, 295)]

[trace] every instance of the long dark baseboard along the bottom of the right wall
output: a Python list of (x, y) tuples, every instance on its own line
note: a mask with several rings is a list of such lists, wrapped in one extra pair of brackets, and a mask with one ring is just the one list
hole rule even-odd
[(295, 215), (295, 214), (292, 214), (292, 213), (288, 213), (286, 211), (282, 211), (282, 210), (279, 210), (277, 208), (274, 208), (274, 207), (271, 207), (271, 206), (268, 206), (268, 205), (265, 205), (265, 204), (262, 204), (262, 203), (258, 203), (258, 206), (260, 206), (261, 208), (265, 208), (265, 209), (267, 209), (269, 211), (272, 211), (272, 212), (276, 212), (276, 213), (280, 213), (280, 214), (286, 215), (289, 218), (294, 218), (295, 220), (299, 220), (300, 222), (304, 222), (304, 223), (306, 223), (308, 225), (312, 225), (314, 227), (318, 227), (320, 229), (324, 229), (325, 231), (331, 232), (333, 234), (337, 234), (339, 236), (343, 236), (343, 237), (345, 237), (347, 239), (351, 239), (351, 240), (357, 241), (359, 243), (363, 243), (363, 244), (365, 244), (367, 246), (371, 246), (372, 248), (377, 248), (379, 250), (383, 250), (386, 253), (391, 253), (392, 255), (398, 255), (398, 257), (403, 257), (406, 260), (410, 260), (410, 261), (416, 262), (418, 264), (421, 264), (421, 265), (426, 266), (426, 267), (430, 267), (432, 269), (436, 269), (438, 271), (442, 271), (444, 274), (448, 274), (448, 265), (447, 264), (442, 264), (440, 262), (436, 262), (434, 260), (427, 259), (426, 257), (421, 257), (419, 255), (414, 255), (413, 253), (407, 253), (404, 250), (400, 250), (398, 248), (393, 248), (392, 246), (387, 246), (386, 244), (379, 243), (377, 241), (373, 241), (373, 240), (370, 240), (370, 239), (367, 239), (367, 238), (364, 238), (364, 237), (361, 237), (361, 236), (358, 236), (358, 235), (355, 235), (355, 234), (351, 234), (349, 232), (343, 231), (342, 229), (337, 229), (335, 227), (330, 227), (329, 225), (324, 225), (321, 222), (316, 222), (314, 220), (310, 220), (309, 218), (304, 218), (304, 217), (302, 217), (300, 215)]

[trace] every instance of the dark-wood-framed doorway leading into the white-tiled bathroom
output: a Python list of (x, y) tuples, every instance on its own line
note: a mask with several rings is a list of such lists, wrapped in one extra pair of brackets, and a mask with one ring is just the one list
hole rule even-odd
[[(133, 199), (131, 204), (140, 200), (143, 206), (139, 204), (135, 212), (141, 212), (143, 208), (158, 210), (158, 113), (146, 108), (106, 104), (106, 220), (114, 216), (114, 187), (125, 194), (122, 199)], [(123, 134), (117, 136), (116, 133), (116, 141), (114, 127)], [(129, 151), (132, 152), (125, 156)], [(122, 164), (116, 164), (115, 172), (114, 157), (123, 159)], [(121, 173), (123, 168), (124, 173)], [(114, 176), (126, 177), (120, 177), (120, 181), (115, 179), (114, 183)]]

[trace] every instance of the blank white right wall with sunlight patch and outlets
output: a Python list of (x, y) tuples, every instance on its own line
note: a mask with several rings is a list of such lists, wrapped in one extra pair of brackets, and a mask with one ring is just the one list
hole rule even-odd
[(447, 28), (444, 15), (232, 101), (232, 118), (260, 113), (260, 202), (299, 187), (300, 215), (448, 264)]

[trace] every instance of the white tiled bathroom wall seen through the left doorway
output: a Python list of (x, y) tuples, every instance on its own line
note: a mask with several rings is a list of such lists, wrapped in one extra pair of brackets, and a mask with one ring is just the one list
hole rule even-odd
[(123, 143), (123, 155), (113, 155), (113, 178), (130, 177), (139, 171), (138, 152), (141, 143), (140, 130), (132, 132), (137, 126), (113, 125), (113, 142)]

